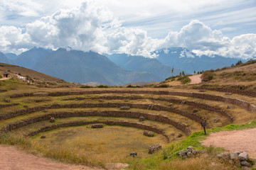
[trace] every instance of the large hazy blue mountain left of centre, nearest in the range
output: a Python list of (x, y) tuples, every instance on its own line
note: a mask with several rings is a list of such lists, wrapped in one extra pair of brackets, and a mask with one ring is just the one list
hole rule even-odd
[(107, 85), (122, 85), (134, 81), (161, 81), (161, 77), (155, 74), (124, 70), (96, 52), (77, 50), (56, 50), (44, 57), (33, 69), (77, 83), (97, 81)]

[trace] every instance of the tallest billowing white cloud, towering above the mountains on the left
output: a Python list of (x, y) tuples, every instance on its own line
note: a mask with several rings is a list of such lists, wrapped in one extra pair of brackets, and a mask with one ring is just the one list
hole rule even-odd
[(43, 47), (73, 47), (73, 49), (104, 52), (105, 28), (113, 28), (117, 21), (112, 13), (93, 1), (83, 2), (79, 8), (60, 9), (52, 16), (28, 23), (31, 40)]

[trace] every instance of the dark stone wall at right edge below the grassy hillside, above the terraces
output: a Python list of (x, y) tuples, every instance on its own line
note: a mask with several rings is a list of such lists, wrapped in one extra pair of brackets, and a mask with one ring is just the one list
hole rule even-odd
[(196, 87), (194, 89), (203, 89), (203, 90), (210, 90), (210, 91), (220, 91), (220, 92), (227, 92), (232, 94), (240, 94), (243, 96), (250, 96), (256, 97), (256, 91), (245, 91), (245, 90), (238, 90), (238, 89), (227, 89), (223, 87)]

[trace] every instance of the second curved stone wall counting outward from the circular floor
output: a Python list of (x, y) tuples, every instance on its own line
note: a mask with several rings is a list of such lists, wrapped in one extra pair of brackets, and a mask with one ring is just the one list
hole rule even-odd
[(173, 125), (178, 130), (181, 130), (186, 135), (191, 135), (191, 131), (183, 125), (182, 123), (178, 123), (175, 120), (171, 120), (162, 115), (153, 115), (147, 113), (139, 113), (139, 112), (131, 112), (131, 111), (78, 111), (78, 112), (58, 112), (58, 113), (51, 113), (47, 115), (42, 115), (36, 118), (31, 118), (28, 120), (23, 120), (19, 123), (13, 123), (11, 125), (7, 125), (6, 127), (0, 130), (2, 132), (9, 132), (11, 130), (21, 128), (26, 125), (30, 125), (32, 123), (41, 122), (43, 120), (50, 120), (50, 118), (70, 118), (70, 117), (82, 117), (82, 116), (110, 116), (110, 117), (124, 117), (124, 118), (139, 118), (140, 116), (144, 116), (144, 118), (149, 120), (158, 121), (161, 123), (166, 123), (169, 125)]

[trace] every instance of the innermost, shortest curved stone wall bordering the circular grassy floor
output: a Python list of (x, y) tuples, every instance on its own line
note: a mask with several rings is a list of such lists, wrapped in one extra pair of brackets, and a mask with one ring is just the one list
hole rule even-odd
[(58, 125), (51, 125), (51, 126), (47, 126), (47, 127), (41, 128), (39, 130), (36, 130), (34, 132), (30, 132), (27, 136), (28, 137), (32, 137), (34, 135), (37, 135), (38, 133), (46, 132), (46, 131), (49, 131), (49, 130), (54, 130), (54, 129), (58, 129), (58, 128), (65, 128), (65, 127), (71, 127), (71, 126), (88, 125), (88, 124), (92, 124), (92, 123), (103, 123), (105, 125), (122, 125), (122, 126), (139, 128), (139, 129), (143, 129), (143, 130), (150, 130), (152, 132), (156, 132), (156, 133), (159, 133), (161, 135), (164, 135), (164, 137), (166, 137), (167, 142), (169, 142), (168, 135), (166, 135), (164, 130), (161, 130), (159, 128), (154, 128), (154, 127), (151, 127), (149, 125), (144, 125), (142, 123), (98, 121), (98, 120), (86, 121), (86, 122), (84, 122), (84, 121), (77, 121), (77, 122), (63, 123), (63, 124), (58, 124)]

